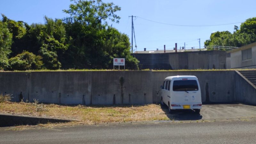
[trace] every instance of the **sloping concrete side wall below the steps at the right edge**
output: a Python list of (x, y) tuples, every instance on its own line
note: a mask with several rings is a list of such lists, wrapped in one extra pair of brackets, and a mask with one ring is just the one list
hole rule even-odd
[(236, 101), (256, 105), (256, 86), (241, 73), (235, 72)]

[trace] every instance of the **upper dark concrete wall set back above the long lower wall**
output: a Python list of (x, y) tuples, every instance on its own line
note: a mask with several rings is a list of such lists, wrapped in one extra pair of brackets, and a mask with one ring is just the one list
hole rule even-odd
[(132, 53), (140, 69), (224, 69), (226, 52)]

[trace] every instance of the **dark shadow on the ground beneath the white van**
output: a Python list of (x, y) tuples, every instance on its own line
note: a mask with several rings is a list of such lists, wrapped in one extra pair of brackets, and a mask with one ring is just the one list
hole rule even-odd
[(170, 114), (166, 105), (161, 106), (161, 108), (170, 120), (200, 120), (203, 117), (191, 109), (176, 109), (173, 114)]

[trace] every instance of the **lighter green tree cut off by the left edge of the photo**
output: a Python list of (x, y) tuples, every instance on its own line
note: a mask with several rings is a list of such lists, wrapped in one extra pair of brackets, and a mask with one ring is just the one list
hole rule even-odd
[(7, 23), (0, 21), (0, 69), (8, 68), (8, 56), (11, 53), (12, 34)]

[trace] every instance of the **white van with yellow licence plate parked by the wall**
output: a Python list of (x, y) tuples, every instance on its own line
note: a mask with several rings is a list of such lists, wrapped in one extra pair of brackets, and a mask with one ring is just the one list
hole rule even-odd
[(161, 104), (166, 104), (170, 113), (173, 109), (193, 109), (196, 113), (200, 113), (201, 89), (196, 76), (166, 77), (161, 88)]

